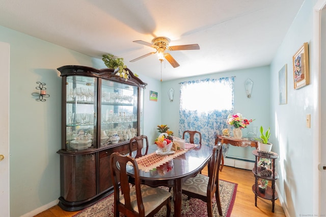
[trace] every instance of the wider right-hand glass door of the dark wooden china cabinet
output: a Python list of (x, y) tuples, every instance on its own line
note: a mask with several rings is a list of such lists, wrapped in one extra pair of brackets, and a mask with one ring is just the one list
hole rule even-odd
[(101, 146), (137, 136), (138, 87), (102, 79), (100, 97)]

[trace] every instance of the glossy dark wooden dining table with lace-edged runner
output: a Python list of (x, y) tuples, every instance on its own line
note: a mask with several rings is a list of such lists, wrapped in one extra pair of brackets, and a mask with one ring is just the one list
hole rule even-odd
[[(133, 151), (133, 157), (137, 151)], [(172, 151), (173, 152), (173, 151)], [(149, 145), (148, 154), (137, 158), (139, 177), (142, 184), (150, 187), (166, 186), (173, 188), (174, 216), (181, 216), (182, 182), (189, 177), (196, 176), (212, 156), (212, 147), (206, 145), (185, 144), (185, 149), (174, 153), (158, 154), (155, 144)], [(148, 163), (149, 159), (154, 163)], [(127, 173), (134, 178), (131, 165), (127, 165)]]

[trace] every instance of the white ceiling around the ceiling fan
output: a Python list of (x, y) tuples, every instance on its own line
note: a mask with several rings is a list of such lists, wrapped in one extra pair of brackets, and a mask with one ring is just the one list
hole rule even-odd
[[(0, 25), (101, 58), (123, 57), (134, 73), (160, 79), (157, 36), (170, 46), (199, 44), (200, 50), (169, 51), (180, 67), (162, 63), (162, 80), (270, 64), (304, 0), (0, 0)], [(60, 66), (58, 66), (60, 67)]]

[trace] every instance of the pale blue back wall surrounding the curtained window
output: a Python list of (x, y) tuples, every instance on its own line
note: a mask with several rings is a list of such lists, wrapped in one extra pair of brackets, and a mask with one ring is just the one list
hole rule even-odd
[[(162, 123), (167, 124), (175, 135), (179, 131), (179, 106), (180, 106), (180, 82), (197, 80), (202, 78), (221, 78), (235, 76), (234, 80), (234, 113), (241, 113), (244, 117), (254, 120), (252, 126), (269, 127), (269, 67), (258, 67), (243, 69), (223, 73), (214, 73), (203, 76), (196, 76), (186, 79), (163, 81), (161, 87), (162, 97)], [(252, 97), (247, 98), (244, 89), (244, 81), (250, 78), (253, 82)], [(174, 100), (169, 102), (168, 90), (174, 89)], [(212, 95), (214, 100), (214, 95)], [(165, 105), (165, 106), (164, 106)], [(243, 129), (243, 136), (247, 135), (247, 129)], [(219, 132), (221, 134), (221, 132)], [(182, 136), (182, 135), (179, 135)], [(234, 147), (230, 146), (228, 157), (255, 160), (252, 150), (253, 147)]]

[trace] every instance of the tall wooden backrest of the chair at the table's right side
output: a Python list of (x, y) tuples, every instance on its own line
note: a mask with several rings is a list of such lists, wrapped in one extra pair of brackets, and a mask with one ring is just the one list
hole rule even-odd
[[(214, 145), (212, 158), (208, 163), (208, 185), (207, 185), (207, 194), (209, 193), (218, 193), (220, 196), (219, 190), (219, 172), (220, 172), (220, 165), (222, 160), (222, 145)], [(207, 195), (208, 196), (208, 195)]]

